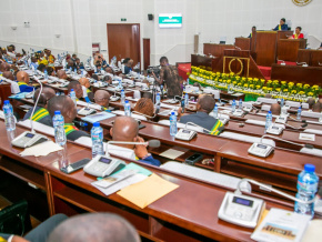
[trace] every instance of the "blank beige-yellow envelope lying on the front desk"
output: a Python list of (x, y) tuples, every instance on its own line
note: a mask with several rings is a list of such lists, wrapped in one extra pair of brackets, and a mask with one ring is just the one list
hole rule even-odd
[(117, 194), (144, 209), (178, 188), (178, 184), (169, 182), (153, 173), (143, 181), (122, 189)]

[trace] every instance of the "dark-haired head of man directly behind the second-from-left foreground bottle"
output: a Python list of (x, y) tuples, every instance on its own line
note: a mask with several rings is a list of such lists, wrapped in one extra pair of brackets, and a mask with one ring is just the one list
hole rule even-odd
[(54, 111), (60, 111), (64, 123), (72, 123), (77, 117), (74, 102), (68, 95), (53, 97), (48, 101), (47, 109), (51, 118), (54, 115)]

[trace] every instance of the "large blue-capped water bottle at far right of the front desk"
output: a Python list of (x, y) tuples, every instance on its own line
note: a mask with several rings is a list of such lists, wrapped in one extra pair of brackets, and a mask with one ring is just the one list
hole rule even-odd
[[(313, 164), (305, 164), (304, 171), (302, 171), (298, 177), (298, 193), (296, 199), (303, 201), (310, 201), (314, 199), (318, 191), (319, 177), (315, 174), (315, 167)], [(310, 204), (304, 204), (295, 202), (294, 212), (314, 215), (314, 202)]]

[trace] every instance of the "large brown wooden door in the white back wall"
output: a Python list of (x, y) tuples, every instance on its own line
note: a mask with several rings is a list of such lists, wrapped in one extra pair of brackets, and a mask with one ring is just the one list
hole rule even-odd
[[(124, 58), (133, 59), (133, 67), (141, 63), (140, 23), (108, 23), (109, 58), (114, 56), (118, 61)], [(142, 68), (142, 64), (141, 64)]]

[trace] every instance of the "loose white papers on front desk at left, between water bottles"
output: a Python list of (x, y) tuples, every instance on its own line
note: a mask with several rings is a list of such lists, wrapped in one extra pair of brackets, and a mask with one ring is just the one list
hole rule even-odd
[(24, 149), (24, 151), (22, 151), (20, 155), (21, 157), (27, 157), (27, 155), (46, 157), (51, 152), (56, 152), (60, 150), (62, 150), (62, 147), (58, 145), (57, 143), (52, 141), (46, 141), (43, 143)]

